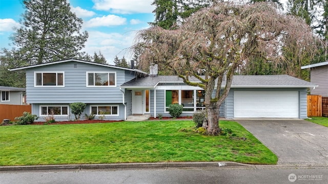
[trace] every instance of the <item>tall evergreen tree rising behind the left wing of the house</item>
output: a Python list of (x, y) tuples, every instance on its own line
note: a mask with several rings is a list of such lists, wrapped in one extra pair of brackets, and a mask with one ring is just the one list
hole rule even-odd
[(24, 0), (23, 4), (23, 26), (12, 39), (28, 64), (73, 58), (85, 47), (88, 33), (79, 32), (83, 21), (66, 0)]

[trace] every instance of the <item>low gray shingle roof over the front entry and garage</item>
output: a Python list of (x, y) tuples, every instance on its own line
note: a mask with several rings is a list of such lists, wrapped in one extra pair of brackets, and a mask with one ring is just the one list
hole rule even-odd
[[(195, 77), (191, 77), (190, 81), (200, 82)], [(121, 85), (122, 88), (155, 88), (161, 83), (170, 85), (181, 85), (182, 79), (177, 76), (157, 76), (135, 78)], [(226, 85), (226, 81), (222, 81), (221, 87)], [(267, 75), (267, 76), (247, 76), (235, 75), (232, 80), (232, 88), (307, 88), (317, 87), (311, 82), (304, 81), (289, 75)]]

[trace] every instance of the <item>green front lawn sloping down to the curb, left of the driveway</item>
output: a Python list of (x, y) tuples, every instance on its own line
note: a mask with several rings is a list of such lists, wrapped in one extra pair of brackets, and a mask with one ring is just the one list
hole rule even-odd
[[(0, 127), (0, 166), (234, 161), (276, 164), (277, 156), (236, 122), (237, 137), (194, 133), (193, 121)], [(186, 131), (180, 131), (185, 129)]]

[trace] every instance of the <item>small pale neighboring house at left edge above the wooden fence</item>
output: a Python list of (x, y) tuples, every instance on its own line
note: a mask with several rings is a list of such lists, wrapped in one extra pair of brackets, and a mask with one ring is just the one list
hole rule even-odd
[(0, 104), (23, 105), (25, 88), (0, 86)]

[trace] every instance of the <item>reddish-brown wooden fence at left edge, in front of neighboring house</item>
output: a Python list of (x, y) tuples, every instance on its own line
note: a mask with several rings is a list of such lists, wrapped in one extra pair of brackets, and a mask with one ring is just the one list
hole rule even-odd
[(4, 119), (14, 121), (15, 117), (23, 116), (23, 112), (31, 112), (31, 105), (0, 104), (0, 124)]

